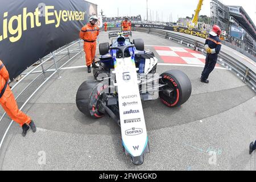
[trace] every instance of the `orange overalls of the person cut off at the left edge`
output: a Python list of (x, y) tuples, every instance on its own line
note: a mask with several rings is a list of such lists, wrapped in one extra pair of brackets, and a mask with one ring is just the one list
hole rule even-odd
[(9, 84), (7, 84), (8, 80), (9, 73), (5, 68), (5, 65), (0, 60), (0, 96), (2, 95), (0, 98), (0, 104), (9, 117), (18, 123), (20, 127), (22, 127), (22, 125), (25, 123), (29, 125), (31, 118), (18, 109), (13, 92), (11, 92)]

